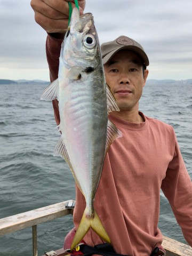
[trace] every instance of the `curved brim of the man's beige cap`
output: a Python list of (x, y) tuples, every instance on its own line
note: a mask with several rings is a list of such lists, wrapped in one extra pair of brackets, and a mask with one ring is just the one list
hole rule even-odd
[(125, 49), (136, 52), (143, 60), (143, 63), (145, 63), (146, 66), (149, 66), (149, 59), (148, 59), (146, 53), (143, 52), (139, 47), (134, 46), (134, 45), (124, 45), (124, 46), (121, 46), (118, 49), (115, 49), (114, 51), (108, 53), (102, 59), (103, 65), (105, 65), (115, 55), (115, 53), (117, 53), (120, 50), (125, 50)]

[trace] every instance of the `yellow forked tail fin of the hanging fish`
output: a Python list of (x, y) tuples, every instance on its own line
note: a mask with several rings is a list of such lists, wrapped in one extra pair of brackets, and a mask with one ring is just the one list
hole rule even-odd
[(111, 243), (110, 238), (105, 228), (103, 227), (98, 214), (94, 211), (92, 217), (87, 218), (86, 212), (87, 211), (85, 209), (83, 217), (81, 219), (81, 222), (79, 223), (73, 242), (71, 244), (71, 251), (73, 251), (74, 248), (79, 244), (79, 242), (82, 241), (83, 237), (86, 235), (90, 228), (92, 228), (95, 231), (95, 233), (97, 233), (104, 241), (106, 241), (109, 244)]

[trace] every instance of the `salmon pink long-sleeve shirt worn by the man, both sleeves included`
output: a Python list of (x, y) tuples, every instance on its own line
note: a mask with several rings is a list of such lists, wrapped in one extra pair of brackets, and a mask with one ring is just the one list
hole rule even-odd
[[(58, 77), (62, 40), (47, 36), (51, 81)], [(53, 101), (57, 124), (58, 102)], [(95, 195), (94, 209), (114, 250), (130, 256), (150, 255), (162, 243), (158, 229), (160, 189), (172, 207), (186, 241), (192, 246), (192, 184), (172, 126), (142, 113), (145, 122), (130, 123), (109, 116), (123, 137), (110, 146)], [(76, 188), (75, 228), (85, 199)], [(83, 238), (91, 246), (103, 243), (91, 229)]]

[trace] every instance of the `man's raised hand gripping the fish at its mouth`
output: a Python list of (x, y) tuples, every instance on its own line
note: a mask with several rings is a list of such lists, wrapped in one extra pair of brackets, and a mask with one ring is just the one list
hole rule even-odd
[[(30, 4), (35, 12), (35, 21), (47, 33), (58, 33), (63, 38), (68, 27), (69, 6), (71, 2), (74, 7), (75, 4), (71, 0), (31, 0)], [(79, 12), (83, 14), (85, 9), (85, 0), (79, 0)]]

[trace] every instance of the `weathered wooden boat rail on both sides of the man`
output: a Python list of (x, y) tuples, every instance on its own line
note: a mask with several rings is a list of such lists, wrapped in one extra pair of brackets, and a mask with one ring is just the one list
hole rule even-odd
[[(68, 203), (73, 202), (75, 201), (69, 200), (0, 219), (0, 235), (32, 227), (33, 256), (37, 256), (37, 225), (68, 214), (73, 214), (73, 209), (66, 208)], [(166, 250), (166, 256), (192, 255), (192, 248), (189, 245), (180, 243), (166, 236), (163, 236), (162, 245)], [(52, 255), (63, 256), (67, 255), (67, 253), (65, 253), (63, 249), (60, 249), (55, 251), (55, 253), (53, 252)]]

